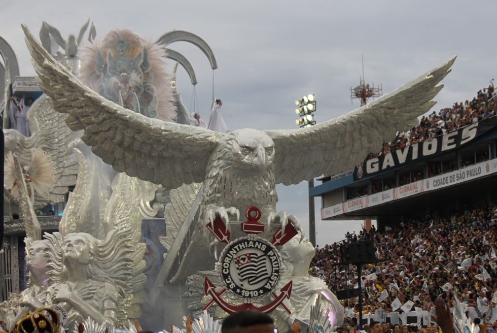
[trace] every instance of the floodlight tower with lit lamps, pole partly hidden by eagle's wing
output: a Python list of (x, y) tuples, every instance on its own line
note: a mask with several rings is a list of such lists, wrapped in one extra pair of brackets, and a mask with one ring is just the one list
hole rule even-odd
[[(316, 124), (314, 120), (314, 112), (316, 111), (316, 99), (314, 94), (308, 94), (295, 101), (297, 109), (295, 113), (300, 116), (295, 120), (297, 125), (302, 127), (310, 127)], [(309, 180), (309, 193), (310, 189), (314, 187), (314, 178)], [(316, 246), (316, 218), (314, 214), (314, 197), (309, 195), (309, 241), (312, 245)]]

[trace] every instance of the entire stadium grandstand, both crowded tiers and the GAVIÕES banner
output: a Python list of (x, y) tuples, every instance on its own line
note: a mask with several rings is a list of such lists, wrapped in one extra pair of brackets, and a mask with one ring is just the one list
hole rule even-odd
[[(468, 321), (479, 318), (495, 329), (496, 114), (491, 85), (423, 116), (354, 170), (310, 189), (322, 197), (323, 220), (377, 221), (377, 228), (347, 233), (343, 241), (374, 241), (378, 262), (361, 272), (363, 324), (401, 317), (400, 323), (428, 327), (435, 299), (455, 291)], [(334, 292), (358, 288), (356, 267), (340, 265), (339, 252), (338, 243), (318, 249), (311, 274)], [(341, 302), (347, 317), (358, 317), (357, 298)]]

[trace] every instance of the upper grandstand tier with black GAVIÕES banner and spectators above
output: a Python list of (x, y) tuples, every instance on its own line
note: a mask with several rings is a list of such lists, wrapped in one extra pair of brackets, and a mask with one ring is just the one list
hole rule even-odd
[(471, 102), (423, 116), (380, 152), (310, 189), (323, 220), (376, 219), (379, 229), (405, 217), (450, 214), (496, 199), (497, 98), (493, 86)]

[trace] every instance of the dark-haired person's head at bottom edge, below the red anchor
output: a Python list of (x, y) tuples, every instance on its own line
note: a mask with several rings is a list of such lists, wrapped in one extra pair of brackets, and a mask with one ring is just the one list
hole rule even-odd
[(274, 322), (267, 314), (247, 310), (230, 314), (223, 320), (221, 333), (273, 333)]

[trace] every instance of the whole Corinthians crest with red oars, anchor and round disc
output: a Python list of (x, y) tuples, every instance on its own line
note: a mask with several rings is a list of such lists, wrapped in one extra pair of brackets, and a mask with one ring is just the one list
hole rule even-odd
[[(256, 212), (256, 216), (252, 216), (253, 212)], [(279, 228), (273, 234), (272, 240), (268, 241), (257, 236), (264, 232), (264, 224), (258, 222), (261, 210), (255, 206), (249, 207), (245, 216), (248, 220), (241, 223), (241, 230), (247, 236), (234, 241), (230, 241), (230, 233), (219, 216), (205, 226), (220, 242), (228, 245), (221, 253), (218, 264), (225, 287), (216, 291), (216, 286), (205, 277), (204, 292), (206, 295), (211, 295), (212, 300), (203, 307), (203, 310), (216, 303), (228, 313), (242, 310), (270, 313), (280, 306), (290, 314), (283, 300), (290, 298), (292, 281), (279, 290), (279, 295), (274, 290), (282, 269), (281, 256), (276, 246), (285, 244), (298, 232), (289, 221), (284, 230)], [(228, 304), (223, 300), (221, 296), (227, 290), (240, 297), (239, 305)], [(251, 304), (252, 298), (264, 296), (272, 297), (272, 301), (262, 307)]]

